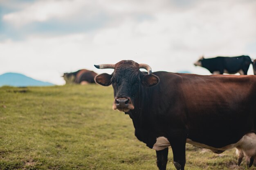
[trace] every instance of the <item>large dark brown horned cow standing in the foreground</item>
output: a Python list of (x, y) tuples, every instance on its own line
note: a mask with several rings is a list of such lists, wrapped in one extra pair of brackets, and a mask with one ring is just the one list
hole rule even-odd
[(175, 168), (184, 170), (186, 143), (214, 153), (236, 147), (252, 166), (256, 156), (254, 75), (151, 74), (149, 65), (131, 60), (94, 66), (114, 69), (111, 75), (97, 75), (95, 82), (112, 84), (112, 108), (130, 116), (135, 136), (156, 150), (160, 170), (166, 169), (168, 146)]

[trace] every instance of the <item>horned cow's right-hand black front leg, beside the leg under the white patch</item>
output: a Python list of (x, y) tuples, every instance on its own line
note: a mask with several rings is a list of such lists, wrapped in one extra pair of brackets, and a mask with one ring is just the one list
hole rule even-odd
[(186, 163), (186, 137), (178, 138), (169, 140), (173, 149), (173, 164), (177, 170), (184, 170)]

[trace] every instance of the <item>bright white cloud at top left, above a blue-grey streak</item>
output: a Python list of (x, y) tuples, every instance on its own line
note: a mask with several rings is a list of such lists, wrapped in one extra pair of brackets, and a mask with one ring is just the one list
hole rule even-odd
[(3, 20), (20, 27), (31, 22), (45, 22), (53, 18), (64, 20), (79, 11), (90, 9), (92, 12), (92, 7), (92, 1), (88, 0), (38, 0), (21, 11), (4, 15)]

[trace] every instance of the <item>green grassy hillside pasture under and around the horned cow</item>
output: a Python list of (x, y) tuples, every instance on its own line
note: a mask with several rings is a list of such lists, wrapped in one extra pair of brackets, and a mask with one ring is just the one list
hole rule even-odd
[[(1, 87), (0, 169), (157, 170), (155, 150), (112, 110), (112, 93), (100, 85)], [(236, 166), (234, 149), (217, 155), (189, 144), (185, 168), (247, 169)], [(175, 170), (171, 148), (167, 169)]]

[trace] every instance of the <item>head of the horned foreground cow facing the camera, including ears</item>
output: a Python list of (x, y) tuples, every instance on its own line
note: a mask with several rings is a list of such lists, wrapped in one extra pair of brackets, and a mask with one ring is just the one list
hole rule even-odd
[[(138, 64), (132, 60), (122, 60), (116, 64), (94, 65), (96, 68), (112, 68), (115, 69), (110, 75), (107, 73), (99, 74), (95, 77), (95, 82), (109, 86), (112, 84), (114, 89), (113, 109), (119, 111), (129, 111), (134, 109), (134, 100), (139, 94), (141, 85), (151, 87), (159, 82), (159, 78), (151, 74), (151, 68), (146, 64)], [(139, 71), (144, 68), (148, 74)]]

